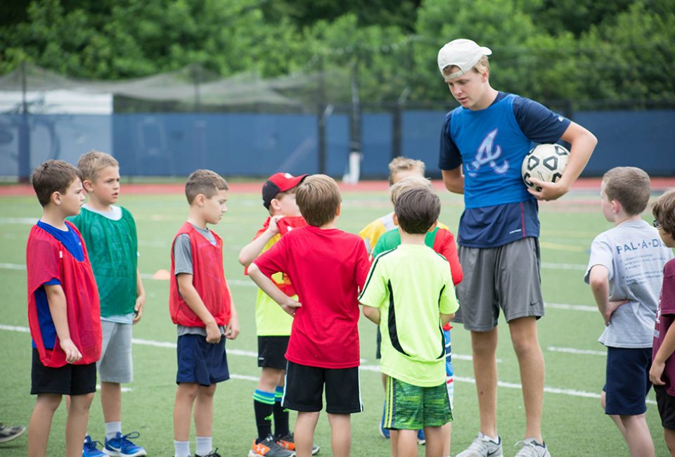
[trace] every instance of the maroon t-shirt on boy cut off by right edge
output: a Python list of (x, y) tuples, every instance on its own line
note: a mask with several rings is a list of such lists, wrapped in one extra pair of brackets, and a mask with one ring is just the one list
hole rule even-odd
[[(661, 287), (661, 299), (656, 310), (656, 324), (654, 332), (654, 345), (652, 358), (659, 351), (666, 337), (666, 333), (675, 321), (675, 259), (669, 260), (663, 268), (663, 285)], [(667, 394), (675, 397), (675, 354), (666, 359), (661, 379), (666, 383)]]

